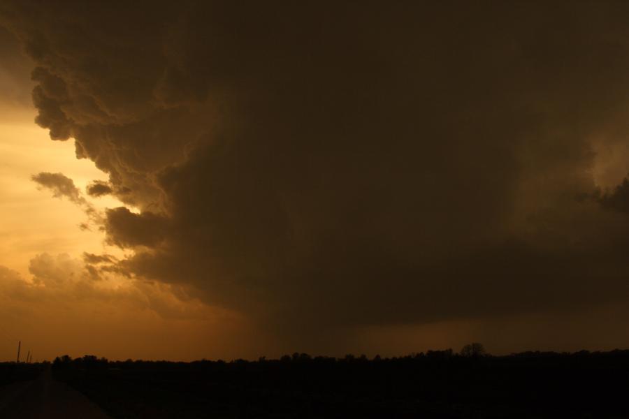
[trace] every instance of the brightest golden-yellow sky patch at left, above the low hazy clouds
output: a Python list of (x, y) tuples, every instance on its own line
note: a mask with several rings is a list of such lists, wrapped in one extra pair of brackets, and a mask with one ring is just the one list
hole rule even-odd
[[(0, 235), (4, 238), (0, 265), (26, 276), (36, 253), (103, 251), (102, 233), (77, 228), (81, 210), (67, 200), (50, 199), (50, 193), (34, 187), (34, 172), (66, 172), (80, 189), (106, 176), (91, 161), (76, 159), (72, 142), (50, 141), (48, 133), (33, 123), (33, 110), (24, 110), (22, 115), (0, 122)], [(95, 201), (99, 206), (115, 205), (108, 197)]]

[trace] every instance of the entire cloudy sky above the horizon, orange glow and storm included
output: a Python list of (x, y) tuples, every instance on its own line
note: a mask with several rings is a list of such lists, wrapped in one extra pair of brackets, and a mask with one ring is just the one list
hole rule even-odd
[(0, 358), (629, 346), (620, 2), (0, 2)]

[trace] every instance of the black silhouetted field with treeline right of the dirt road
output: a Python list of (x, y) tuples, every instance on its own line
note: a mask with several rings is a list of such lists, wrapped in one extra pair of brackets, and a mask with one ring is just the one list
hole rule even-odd
[(58, 359), (115, 418), (627, 418), (629, 351), (247, 362)]

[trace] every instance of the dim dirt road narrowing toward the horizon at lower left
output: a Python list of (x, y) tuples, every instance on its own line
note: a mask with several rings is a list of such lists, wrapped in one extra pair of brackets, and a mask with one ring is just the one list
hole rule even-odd
[(33, 381), (0, 388), (2, 419), (111, 419), (80, 392), (52, 378), (50, 368)]

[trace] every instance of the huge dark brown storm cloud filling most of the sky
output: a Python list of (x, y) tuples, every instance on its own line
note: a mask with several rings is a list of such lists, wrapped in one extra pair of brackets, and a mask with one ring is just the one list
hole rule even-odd
[(38, 124), (141, 210), (126, 272), (280, 329), (626, 299), (626, 216), (577, 199), (629, 131), (622, 3), (2, 10)]

